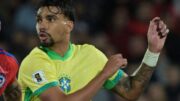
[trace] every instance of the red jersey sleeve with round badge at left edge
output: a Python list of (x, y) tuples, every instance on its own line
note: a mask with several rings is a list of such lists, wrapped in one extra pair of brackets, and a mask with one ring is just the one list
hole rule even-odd
[(0, 95), (4, 90), (13, 83), (16, 79), (18, 71), (18, 63), (15, 57), (8, 53), (3, 52), (0, 55)]

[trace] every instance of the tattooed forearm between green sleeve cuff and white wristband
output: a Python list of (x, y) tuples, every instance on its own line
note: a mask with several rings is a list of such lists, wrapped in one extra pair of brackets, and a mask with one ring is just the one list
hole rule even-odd
[(115, 92), (127, 100), (134, 101), (144, 91), (154, 68), (142, 63), (139, 71), (133, 76), (127, 76), (114, 88)]

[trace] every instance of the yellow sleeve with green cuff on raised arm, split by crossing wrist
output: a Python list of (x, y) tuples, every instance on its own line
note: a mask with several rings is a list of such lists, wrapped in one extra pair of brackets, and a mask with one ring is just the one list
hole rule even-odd
[[(95, 47), (94, 47), (94, 52), (96, 55), (97, 67), (103, 69), (106, 62), (108, 61), (108, 58), (100, 50), (98, 50)], [(103, 87), (107, 90), (114, 88), (124, 75), (126, 75), (126, 73), (123, 70), (119, 69), (112, 77), (106, 80)]]

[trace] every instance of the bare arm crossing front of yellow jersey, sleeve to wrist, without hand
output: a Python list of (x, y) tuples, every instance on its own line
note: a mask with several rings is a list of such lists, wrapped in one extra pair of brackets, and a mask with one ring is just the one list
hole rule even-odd
[(90, 101), (106, 80), (103, 73), (99, 73), (91, 82), (77, 92), (65, 95), (58, 87), (52, 87), (40, 95), (41, 101)]

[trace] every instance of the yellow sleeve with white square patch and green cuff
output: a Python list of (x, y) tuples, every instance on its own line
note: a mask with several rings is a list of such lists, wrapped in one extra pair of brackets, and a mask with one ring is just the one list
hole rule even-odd
[[(39, 96), (48, 88), (59, 85), (55, 66), (50, 60), (39, 57), (22, 62), (18, 81), (26, 98)], [(28, 94), (28, 92), (30, 93)]]

